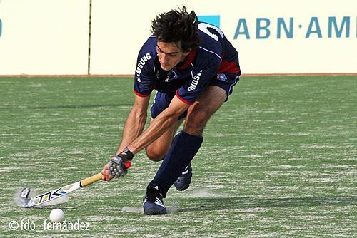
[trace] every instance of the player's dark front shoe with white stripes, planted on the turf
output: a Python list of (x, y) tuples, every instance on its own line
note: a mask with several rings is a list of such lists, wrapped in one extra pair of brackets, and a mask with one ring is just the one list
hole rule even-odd
[(146, 188), (146, 194), (143, 198), (144, 214), (146, 215), (161, 215), (166, 214), (166, 207), (162, 201), (163, 197), (160, 193), (159, 186), (149, 185)]

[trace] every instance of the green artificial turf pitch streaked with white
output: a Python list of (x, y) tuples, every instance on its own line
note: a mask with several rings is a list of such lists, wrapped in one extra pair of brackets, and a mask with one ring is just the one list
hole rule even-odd
[[(191, 186), (169, 190), (164, 216), (142, 212), (160, 165), (144, 151), (124, 178), (59, 205), (20, 207), (23, 187), (37, 195), (100, 172), (121, 140), (133, 84), (0, 78), (1, 237), (357, 237), (356, 76), (241, 77), (206, 126)], [(46, 229), (54, 208), (88, 230)]]

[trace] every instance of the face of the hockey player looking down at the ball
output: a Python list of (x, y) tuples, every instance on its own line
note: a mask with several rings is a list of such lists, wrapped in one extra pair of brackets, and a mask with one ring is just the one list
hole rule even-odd
[(158, 42), (156, 51), (159, 56), (161, 68), (170, 71), (178, 63), (184, 61), (190, 52), (183, 52), (175, 43)]

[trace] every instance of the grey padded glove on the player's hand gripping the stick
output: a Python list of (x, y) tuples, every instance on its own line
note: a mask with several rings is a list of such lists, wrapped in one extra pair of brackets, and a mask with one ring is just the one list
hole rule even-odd
[(125, 148), (119, 155), (114, 156), (108, 165), (111, 177), (124, 177), (131, 166), (131, 160), (134, 154), (128, 148)]

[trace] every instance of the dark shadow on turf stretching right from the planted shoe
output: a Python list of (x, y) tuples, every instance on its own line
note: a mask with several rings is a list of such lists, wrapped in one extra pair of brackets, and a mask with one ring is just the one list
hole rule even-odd
[(291, 197), (268, 198), (255, 197), (196, 197), (191, 199), (190, 207), (178, 209), (176, 212), (204, 210), (233, 210), (269, 207), (321, 207), (357, 205), (357, 196), (326, 196), (326, 197)]

